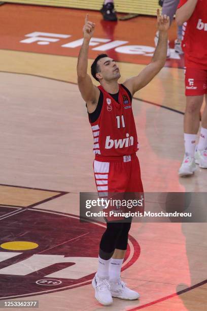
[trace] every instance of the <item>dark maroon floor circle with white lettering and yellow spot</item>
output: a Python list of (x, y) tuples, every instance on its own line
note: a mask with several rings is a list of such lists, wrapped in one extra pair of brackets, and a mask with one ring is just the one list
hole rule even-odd
[[(76, 215), (43, 209), (26, 210), (13, 216), (12, 221), (11, 226), (9, 217), (5, 219), (4, 238), (0, 239), (1, 282), (9, 284), (0, 288), (0, 300), (48, 294), (91, 283), (105, 225), (80, 223)], [(19, 244), (36, 242), (36, 248), (27, 246), (14, 251), (11, 246), (5, 246), (17, 243), (20, 236), (24, 242)], [(132, 247), (127, 248), (123, 270), (140, 255), (136, 240), (129, 236), (129, 241)]]

